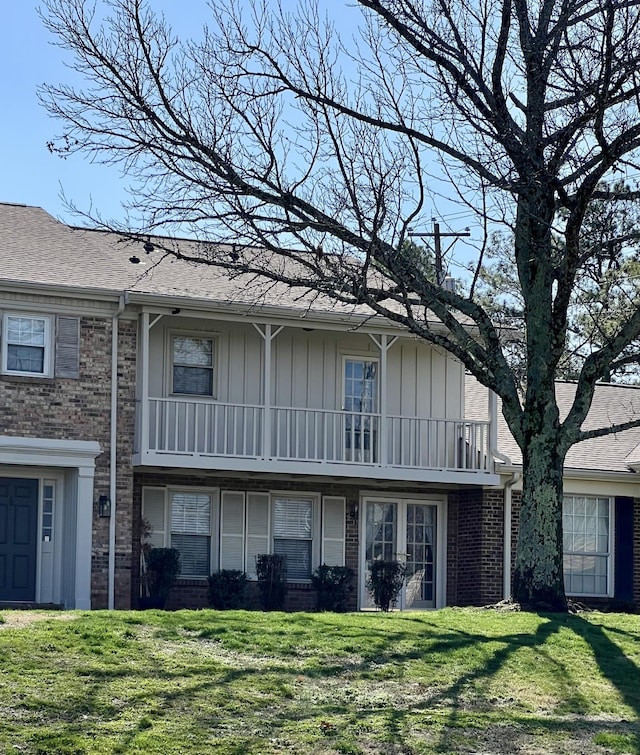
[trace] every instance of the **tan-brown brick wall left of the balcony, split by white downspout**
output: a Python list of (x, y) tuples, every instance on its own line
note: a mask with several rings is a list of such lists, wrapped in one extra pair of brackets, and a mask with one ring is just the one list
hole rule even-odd
[[(136, 324), (119, 323), (118, 513), (116, 521), (117, 593), (131, 593), (131, 522)], [(4, 435), (28, 438), (92, 440), (102, 453), (96, 459), (93, 500), (92, 606), (107, 605), (109, 520), (98, 517), (98, 497), (109, 494), (111, 407), (111, 318), (82, 317), (80, 378), (0, 376)]]

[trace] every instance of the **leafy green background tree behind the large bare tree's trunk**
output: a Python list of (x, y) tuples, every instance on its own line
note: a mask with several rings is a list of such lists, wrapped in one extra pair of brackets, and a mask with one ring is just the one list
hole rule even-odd
[[(601, 190), (608, 191), (602, 186)], [(617, 182), (613, 191), (623, 196), (631, 189)], [(554, 243), (562, 245), (562, 238)], [(585, 215), (580, 244), (593, 254), (576, 279), (568, 309), (567, 343), (558, 362), (556, 377), (576, 380), (586, 357), (608, 343), (622, 321), (637, 306), (640, 292), (640, 205), (625, 199), (593, 200)], [(489, 237), (484, 262), (476, 272), (474, 290), (466, 288), (490, 314), (494, 324), (512, 337), (503, 336), (505, 355), (524, 391), (527, 379), (524, 302), (513, 262), (513, 233), (494, 232)], [(624, 349), (615, 368), (603, 380), (638, 382), (640, 343), (634, 339)], [(622, 357), (626, 357), (622, 358)]]

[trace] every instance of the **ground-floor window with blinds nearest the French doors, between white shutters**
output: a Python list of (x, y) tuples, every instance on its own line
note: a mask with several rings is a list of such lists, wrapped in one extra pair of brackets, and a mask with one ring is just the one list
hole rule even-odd
[(311, 578), (313, 500), (275, 498), (273, 551), (287, 557), (287, 579)]

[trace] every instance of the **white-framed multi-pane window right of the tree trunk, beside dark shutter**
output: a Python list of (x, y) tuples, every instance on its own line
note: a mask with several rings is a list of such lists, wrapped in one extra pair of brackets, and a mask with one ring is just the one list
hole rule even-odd
[(609, 592), (610, 508), (609, 498), (564, 497), (564, 581), (569, 595)]

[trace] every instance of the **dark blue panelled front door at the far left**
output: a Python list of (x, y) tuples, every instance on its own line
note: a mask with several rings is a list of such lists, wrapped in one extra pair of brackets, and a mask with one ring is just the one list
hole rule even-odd
[(36, 599), (38, 480), (0, 477), (0, 600)]

